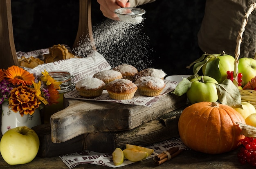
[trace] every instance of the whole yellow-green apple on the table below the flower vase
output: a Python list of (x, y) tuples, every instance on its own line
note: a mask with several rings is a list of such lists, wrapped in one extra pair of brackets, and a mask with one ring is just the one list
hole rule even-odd
[(2, 158), (9, 165), (31, 162), (39, 149), (39, 138), (33, 129), (16, 127), (4, 133), (0, 141)]

